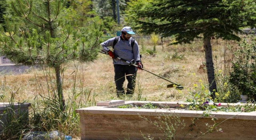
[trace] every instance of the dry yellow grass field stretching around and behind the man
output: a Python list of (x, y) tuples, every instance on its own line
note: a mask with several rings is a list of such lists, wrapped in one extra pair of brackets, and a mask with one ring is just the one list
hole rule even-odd
[[(217, 62), (215, 68), (222, 68), (224, 63), (223, 50), (224, 46), (227, 46), (227, 42), (212, 40), (213, 57), (217, 56)], [(153, 48), (152, 44), (146, 44), (143, 40), (144, 46), (147, 49)], [(148, 41), (150, 42), (150, 41)], [(140, 42), (139, 42), (140, 43)], [(226, 43), (226, 44), (225, 44)], [(141, 46), (140, 46), (141, 47)], [(174, 54), (174, 50), (178, 54), (183, 54), (182, 60), (172, 60), (171, 56)], [(202, 41), (193, 42), (193, 44), (173, 45), (167, 46), (164, 44), (164, 51), (162, 51), (162, 45), (156, 46), (156, 55), (142, 54), (142, 62), (144, 68), (158, 74), (160, 76), (166, 76), (172, 82), (182, 84), (184, 90), (178, 92), (174, 88), (166, 88), (170, 82), (158, 78), (146, 71), (138, 70), (137, 84), (135, 95), (132, 99), (136, 100), (139, 93), (138, 88), (142, 90), (142, 98), (152, 101), (184, 101), (188, 94), (188, 89), (192, 88), (194, 84), (198, 83), (198, 80), (207, 81), (207, 75), (204, 70), (198, 70), (202, 62), (204, 61), (204, 50)], [(227, 57), (227, 56), (226, 56)], [(77, 65), (77, 64), (76, 64)], [(76, 77), (76, 88), (81, 89), (81, 83), (83, 88), (91, 90), (91, 94), (97, 95), (96, 101), (118, 99), (115, 93), (114, 83), (114, 67), (112, 60), (109, 56), (99, 54), (98, 60), (91, 64), (78, 64), (78, 72)], [(222, 68), (223, 69), (223, 68)], [(72, 87), (74, 84), (74, 75), (76, 68), (74, 63), (67, 64), (64, 71), (64, 94), (67, 97), (68, 94), (72, 94)], [(11, 90), (17, 90), (16, 100), (33, 100), (33, 98), (42, 90), (47, 92), (47, 84), (45, 78), (45, 72), (42, 70), (28, 70), (26, 73), (15, 74), (1, 74), (0, 84), (5, 93)], [(51, 71), (51, 76), (54, 77), (54, 72)], [(41, 90), (36, 84), (36, 79), (42, 84)], [(125, 82), (127, 83), (127, 82)], [(2, 92), (3, 90), (0, 90)], [(8, 94), (6, 95), (8, 96)]]

